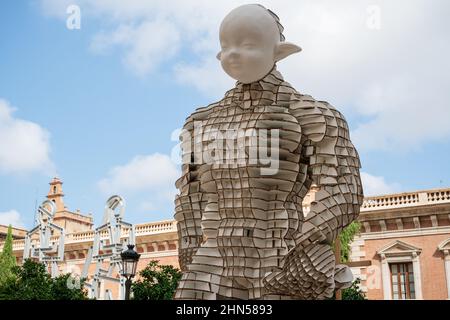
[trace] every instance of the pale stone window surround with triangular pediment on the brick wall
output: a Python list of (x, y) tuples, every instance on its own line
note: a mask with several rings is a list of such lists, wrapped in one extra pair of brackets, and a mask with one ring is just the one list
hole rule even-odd
[(385, 300), (392, 300), (391, 271), (389, 268), (389, 263), (397, 262), (412, 262), (416, 299), (423, 299), (422, 277), (419, 260), (419, 255), (421, 252), (422, 249), (400, 240), (393, 241), (377, 251), (377, 254), (381, 257), (381, 277)]

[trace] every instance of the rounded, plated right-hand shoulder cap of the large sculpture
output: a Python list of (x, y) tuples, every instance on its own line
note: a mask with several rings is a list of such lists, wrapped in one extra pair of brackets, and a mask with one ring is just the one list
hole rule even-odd
[(295, 93), (289, 105), (289, 112), (297, 118), (302, 133), (309, 140), (319, 142), (325, 137), (349, 139), (344, 115), (326, 101)]

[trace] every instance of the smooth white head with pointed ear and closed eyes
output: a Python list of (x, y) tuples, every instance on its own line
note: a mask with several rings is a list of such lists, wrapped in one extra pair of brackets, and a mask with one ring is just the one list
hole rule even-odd
[(221, 51), (217, 54), (225, 72), (242, 83), (264, 78), (277, 61), (301, 51), (285, 42), (278, 17), (257, 4), (232, 10), (220, 25)]

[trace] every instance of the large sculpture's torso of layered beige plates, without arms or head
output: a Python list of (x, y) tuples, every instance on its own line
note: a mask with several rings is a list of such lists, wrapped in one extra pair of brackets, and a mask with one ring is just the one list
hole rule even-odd
[[(290, 113), (294, 94), (288, 83), (269, 75), (238, 85), (192, 115), (194, 148), (204, 151), (200, 188), (210, 195), (202, 219), (208, 239), (204, 247), (218, 248), (223, 275), (243, 287), (256, 284), (248, 279), (259, 282), (281, 267), (303, 219), (302, 199), (309, 186), (300, 161), (301, 127)], [(278, 156), (264, 149), (271, 143), (279, 143)], [(271, 165), (273, 171), (261, 174)]]

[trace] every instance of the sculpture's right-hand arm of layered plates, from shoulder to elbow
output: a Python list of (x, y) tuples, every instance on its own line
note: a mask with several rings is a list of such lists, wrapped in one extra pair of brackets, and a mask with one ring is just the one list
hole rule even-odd
[(309, 162), (309, 179), (320, 189), (295, 242), (302, 247), (316, 241), (331, 244), (358, 217), (363, 201), (360, 161), (341, 113), (312, 98), (299, 106), (303, 157)]

